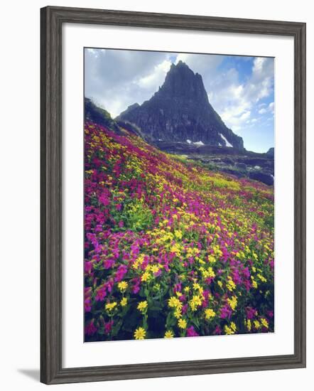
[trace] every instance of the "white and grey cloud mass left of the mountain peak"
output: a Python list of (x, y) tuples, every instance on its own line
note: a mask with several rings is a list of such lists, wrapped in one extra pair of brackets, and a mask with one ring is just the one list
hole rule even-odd
[(148, 100), (161, 85), (170, 53), (85, 50), (85, 96), (116, 117), (129, 105)]

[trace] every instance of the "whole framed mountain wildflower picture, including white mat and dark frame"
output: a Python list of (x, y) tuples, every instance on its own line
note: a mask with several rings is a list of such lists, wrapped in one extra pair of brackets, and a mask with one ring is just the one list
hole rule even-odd
[(305, 23), (41, 9), (41, 381), (305, 367)]

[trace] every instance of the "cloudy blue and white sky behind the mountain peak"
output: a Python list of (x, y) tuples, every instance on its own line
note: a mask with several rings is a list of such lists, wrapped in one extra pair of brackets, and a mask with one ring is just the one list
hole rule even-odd
[(202, 75), (210, 104), (246, 149), (274, 146), (274, 58), (85, 48), (85, 97), (117, 117), (149, 100), (179, 60)]

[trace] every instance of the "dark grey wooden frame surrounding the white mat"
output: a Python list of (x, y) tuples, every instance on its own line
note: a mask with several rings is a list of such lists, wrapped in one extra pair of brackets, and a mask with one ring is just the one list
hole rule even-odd
[[(40, 10), (40, 380), (46, 384), (305, 367), (305, 23), (48, 6)], [(108, 24), (294, 38), (294, 354), (62, 367), (62, 25)], [(291, 61), (293, 59), (291, 58)]]

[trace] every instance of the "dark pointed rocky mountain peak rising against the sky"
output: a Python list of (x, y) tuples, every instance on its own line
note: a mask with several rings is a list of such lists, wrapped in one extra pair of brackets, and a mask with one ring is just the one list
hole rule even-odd
[(231, 144), (244, 149), (243, 140), (227, 128), (210, 105), (202, 76), (179, 61), (171, 65), (162, 87), (150, 100), (131, 105), (118, 120), (141, 128), (149, 141), (198, 142), (211, 146)]

